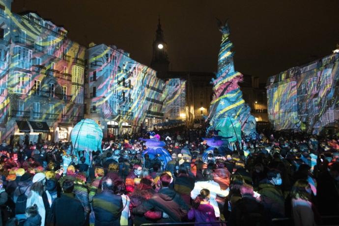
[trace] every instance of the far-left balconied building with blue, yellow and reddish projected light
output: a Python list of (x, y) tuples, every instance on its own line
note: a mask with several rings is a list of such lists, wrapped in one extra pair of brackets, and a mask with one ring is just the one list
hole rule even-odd
[[(24, 132), (42, 133), (43, 140), (67, 139), (83, 118), (85, 47), (69, 40), (64, 28), (35, 13), (11, 13), (10, 2), (5, 4), (0, 139)], [(25, 128), (25, 121), (30, 126)]]

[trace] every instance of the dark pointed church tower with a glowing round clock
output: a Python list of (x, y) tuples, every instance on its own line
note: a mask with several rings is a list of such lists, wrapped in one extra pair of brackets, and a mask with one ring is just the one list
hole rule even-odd
[(167, 43), (164, 40), (164, 32), (161, 29), (160, 17), (158, 28), (153, 41), (153, 55), (151, 68), (157, 71), (157, 77), (165, 78), (169, 71), (169, 57), (167, 55)]

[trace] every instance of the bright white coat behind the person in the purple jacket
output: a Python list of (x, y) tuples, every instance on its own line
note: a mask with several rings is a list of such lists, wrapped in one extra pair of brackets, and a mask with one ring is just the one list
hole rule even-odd
[(194, 189), (191, 192), (191, 198), (196, 199), (202, 189), (209, 190), (210, 192), (209, 202), (214, 208), (215, 216), (220, 217), (220, 210), (219, 210), (216, 198), (217, 198), (217, 195), (220, 197), (228, 196), (229, 189), (221, 190), (220, 185), (213, 180), (197, 181), (194, 185)]

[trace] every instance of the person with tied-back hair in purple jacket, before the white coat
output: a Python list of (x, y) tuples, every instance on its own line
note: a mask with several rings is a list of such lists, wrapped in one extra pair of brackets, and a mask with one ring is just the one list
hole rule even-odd
[[(207, 189), (202, 189), (200, 194), (192, 203), (192, 208), (188, 212), (188, 219), (195, 222), (216, 222), (214, 208), (209, 204), (210, 192)], [(196, 226), (214, 226), (214, 224), (195, 224)], [(217, 224), (215, 224), (217, 225)]]

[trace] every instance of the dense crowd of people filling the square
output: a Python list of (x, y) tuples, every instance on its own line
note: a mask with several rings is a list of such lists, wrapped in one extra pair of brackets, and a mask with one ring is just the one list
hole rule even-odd
[(160, 135), (166, 165), (134, 139), (103, 141), (90, 159), (69, 143), (3, 142), (0, 224), (314, 226), (339, 215), (337, 137), (261, 133), (206, 151), (202, 130)]

